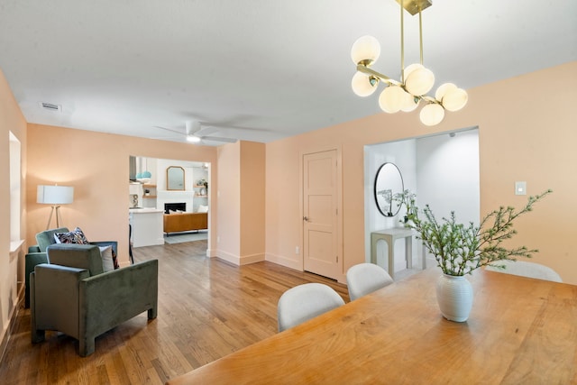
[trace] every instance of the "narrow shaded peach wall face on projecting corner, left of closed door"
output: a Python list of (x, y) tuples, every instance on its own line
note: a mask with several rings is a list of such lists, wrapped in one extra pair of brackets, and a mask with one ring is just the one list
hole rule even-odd
[(241, 143), (241, 256), (264, 260), (265, 145)]

